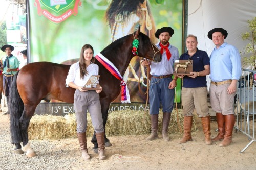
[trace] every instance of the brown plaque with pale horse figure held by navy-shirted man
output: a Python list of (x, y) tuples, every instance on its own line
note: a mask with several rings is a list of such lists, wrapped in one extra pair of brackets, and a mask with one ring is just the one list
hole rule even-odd
[(193, 60), (175, 60), (173, 75), (193, 75), (189, 72), (193, 72)]

